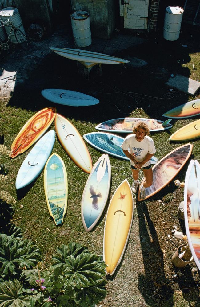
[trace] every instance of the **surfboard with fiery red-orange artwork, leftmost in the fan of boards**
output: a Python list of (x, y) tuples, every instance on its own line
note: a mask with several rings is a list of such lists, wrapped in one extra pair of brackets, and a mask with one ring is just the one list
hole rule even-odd
[(42, 109), (33, 115), (14, 139), (9, 156), (15, 158), (33, 145), (52, 124), (55, 115), (55, 107)]

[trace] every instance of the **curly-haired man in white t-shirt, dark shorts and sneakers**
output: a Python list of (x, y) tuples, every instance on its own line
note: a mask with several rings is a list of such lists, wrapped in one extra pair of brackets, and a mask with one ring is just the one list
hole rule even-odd
[[(130, 159), (130, 166), (133, 175), (132, 191), (138, 192), (139, 188), (139, 169), (142, 169), (146, 178), (140, 187), (140, 198), (145, 199), (145, 189), (150, 187), (153, 182), (153, 172), (150, 159), (156, 152), (154, 141), (148, 136), (149, 127), (144, 122), (137, 122), (133, 127), (133, 134), (128, 135), (121, 147), (126, 157)], [(129, 150), (130, 152), (129, 152)]]

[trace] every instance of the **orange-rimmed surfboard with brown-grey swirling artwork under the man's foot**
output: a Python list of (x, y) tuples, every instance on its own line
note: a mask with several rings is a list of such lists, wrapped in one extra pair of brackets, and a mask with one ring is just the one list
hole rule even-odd
[[(193, 145), (190, 143), (186, 145), (179, 146), (168, 153), (165, 157), (158, 161), (156, 165), (153, 166), (153, 184), (145, 189), (146, 198), (153, 196), (162, 190), (166, 185), (174, 179), (178, 172), (185, 165), (186, 161), (189, 159), (192, 152)], [(145, 181), (142, 180), (141, 185)], [(140, 188), (138, 191), (138, 201), (140, 201)]]

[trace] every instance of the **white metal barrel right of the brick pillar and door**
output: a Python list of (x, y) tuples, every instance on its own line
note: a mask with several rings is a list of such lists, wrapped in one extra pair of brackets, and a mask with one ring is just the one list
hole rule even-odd
[(183, 8), (180, 6), (168, 6), (165, 9), (165, 22), (163, 37), (168, 41), (175, 41), (179, 38)]

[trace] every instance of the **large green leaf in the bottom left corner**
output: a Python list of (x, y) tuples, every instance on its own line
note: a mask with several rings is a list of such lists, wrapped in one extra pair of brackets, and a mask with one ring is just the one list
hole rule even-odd
[(17, 279), (0, 284), (0, 306), (30, 307), (29, 296), (22, 294), (22, 284)]

